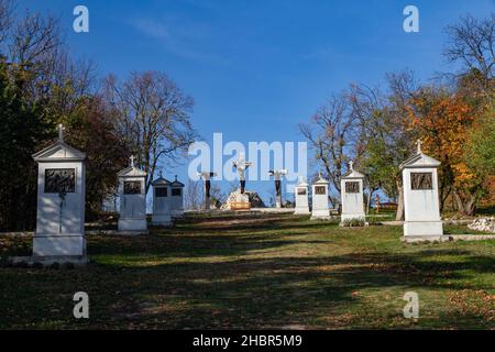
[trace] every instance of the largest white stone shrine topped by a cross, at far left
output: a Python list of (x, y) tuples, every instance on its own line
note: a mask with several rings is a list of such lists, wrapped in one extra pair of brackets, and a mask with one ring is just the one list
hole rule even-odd
[(86, 154), (64, 142), (59, 124), (58, 141), (33, 158), (37, 162), (37, 216), (32, 261), (86, 262)]

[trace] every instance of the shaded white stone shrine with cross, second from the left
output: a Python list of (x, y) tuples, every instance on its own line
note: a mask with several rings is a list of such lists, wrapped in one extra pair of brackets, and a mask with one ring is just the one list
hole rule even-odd
[(134, 164), (134, 155), (130, 165), (117, 174), (119, 177), (119, 232), (139, 234), (147, 232), (146, 221), (146, 173)]

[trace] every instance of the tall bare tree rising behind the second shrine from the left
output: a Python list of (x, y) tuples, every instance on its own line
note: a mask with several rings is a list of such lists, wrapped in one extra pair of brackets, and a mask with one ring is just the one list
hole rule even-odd
[(158, 72), (133, 72), (123, 82), (109, 76), (105, 94), (138, 165), (147, 173), (147, 193), (158, 162), (175, 162), (197, 138), (189, 118), (193, 98)]

